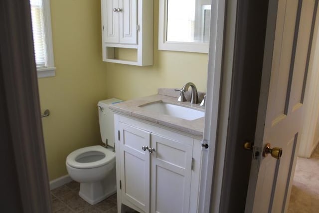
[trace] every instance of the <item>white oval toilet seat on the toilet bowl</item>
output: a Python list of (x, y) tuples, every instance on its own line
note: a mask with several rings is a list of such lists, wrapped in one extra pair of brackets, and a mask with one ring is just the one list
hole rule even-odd
[[(96, 161), (81, 163), (77, 161), (81, 155), (86, 157), (91, 155), (92, 156), (97, 155), (101, 157), (98, 157), (97, 158), (98, 160)], [(103, 155), (105, 156), (103, 157)], [(94, 159), (94, 156), (92, 159)], [(102, 146), (90, 146), (90, 147), (80, 148), (71, 152), (66, 158), (66, 163), (70, 167), (74, 167), (78, 169), (90, 169), (90, 168), (101, 167), (113, 161), (115, 161), (115, 153)]]

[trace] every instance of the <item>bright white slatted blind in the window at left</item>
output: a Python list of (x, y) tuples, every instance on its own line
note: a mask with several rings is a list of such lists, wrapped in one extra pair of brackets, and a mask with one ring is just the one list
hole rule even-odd
[(37, 68), (47, 66), (42, 0), (30, 0), (35, 63)]

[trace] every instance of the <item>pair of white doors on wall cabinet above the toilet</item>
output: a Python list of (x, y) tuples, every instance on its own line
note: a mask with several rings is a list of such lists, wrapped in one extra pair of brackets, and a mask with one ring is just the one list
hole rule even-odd
[(104, 42), (137, 44), (137, 0), (102, 0), (102, 16)]

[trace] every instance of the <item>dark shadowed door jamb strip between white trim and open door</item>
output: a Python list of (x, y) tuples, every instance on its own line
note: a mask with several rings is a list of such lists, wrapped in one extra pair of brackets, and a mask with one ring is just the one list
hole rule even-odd
[[(245, 209), (253, 150), (245, 150), (244, 143), (254, 142), (267, 11), (268, 1), (241, 0), (237, 4), (230, 110), (219, 209), (222, 213), (244, 212)], [(252, 29), (255, 33), (251, 32)]]

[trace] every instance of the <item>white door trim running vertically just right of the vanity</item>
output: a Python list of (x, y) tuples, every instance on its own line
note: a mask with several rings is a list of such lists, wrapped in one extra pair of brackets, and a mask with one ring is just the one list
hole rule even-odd
[(198, 213), (219, 212), (237, 0), (212, 0)]

